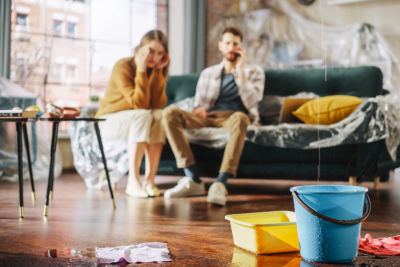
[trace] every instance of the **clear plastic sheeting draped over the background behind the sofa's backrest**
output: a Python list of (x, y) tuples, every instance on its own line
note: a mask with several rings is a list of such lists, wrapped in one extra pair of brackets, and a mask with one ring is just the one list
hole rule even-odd
[[(220, 20), (210, 31), (217, 42), (225, 26), (239, 26), (248, 61), (264, 69), (377, 66), (383, 87), (400, 94), (400, 63), (373, 25), (328, 26), (301, 16), (288, 1)], [(329, 9), (321, 10), (321, 15)], [(322, 18), (321, 18), (322, 19)]]

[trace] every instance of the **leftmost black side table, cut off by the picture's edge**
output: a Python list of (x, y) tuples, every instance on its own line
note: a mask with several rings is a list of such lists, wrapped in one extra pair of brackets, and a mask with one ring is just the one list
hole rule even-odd
[(19, 182), (19, 217), (24, 218), (24, 182), (23, 182), (23, 163), (22, 163), (22, 135), (24, 136), (26, 157), (28, 160), (29, 178), (31, 180), (32, 198), (36, 200), (35, 183), (33, 181), (31, 153), (29, 150), (28, 131), (26, 123), (28, 121), (36, 121), (36, 119), (28, 118), (7, 118), (0, 117), (0, 122), (15, 122), (17, 126), (17, 155), (18, 155), (18, 182)]

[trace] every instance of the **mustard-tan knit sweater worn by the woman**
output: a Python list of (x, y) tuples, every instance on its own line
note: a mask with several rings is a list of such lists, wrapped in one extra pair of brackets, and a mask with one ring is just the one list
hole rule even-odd
[(136, 72), (134, 57), (119, 60), (96, 117), (128, 109), (159, 109), (167, 103), (167, 75), (161, 69)]

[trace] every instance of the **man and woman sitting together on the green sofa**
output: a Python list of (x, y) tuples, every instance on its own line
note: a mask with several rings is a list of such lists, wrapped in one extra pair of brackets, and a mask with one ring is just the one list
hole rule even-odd
[[(97, 117), (106, 119), (100, 123), (105, 141), (128, 140), (128, 195), (160, 195), (154, 177), (165, 135), (185, 176), (175, 187), (166, 190), (164, 197), (204, 195), (204, 183), (197, 173), (184, 129), (219, 127), (229, 132), (229, 140), (207, 202), (225, 205), (228, 194), (225, 185), (236, 175), (247, 126), (259, 120), (257, 105), (263, 97), (265, 81), (260, 67), (247, 65), (242, 38), (236, 28), (223, 30), (218, 43), (223, 60), (201, 72), (192, 112), (173, 106), (161, 110), (167, 102), (169, 65), (167, 38), (161, 31), (148, 32), (135, 49), (134, 57), (116, 63)], [(141, 184), (139, 170), (144, 154), (146, 173)]]

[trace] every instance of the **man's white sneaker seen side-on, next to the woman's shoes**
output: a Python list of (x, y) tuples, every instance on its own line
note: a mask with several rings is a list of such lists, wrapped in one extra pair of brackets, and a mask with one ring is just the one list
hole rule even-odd
[(196, 183), (190, 177), (183, 177), (178, 181), (178, 184), (173, 188), (170, 188), (165, 191), (165, 198), (173, 198), (173, 197), (189, 197), (189, 196), (198, 196), (204, 195), (206, 190), (204, 189), (204, 183)]

